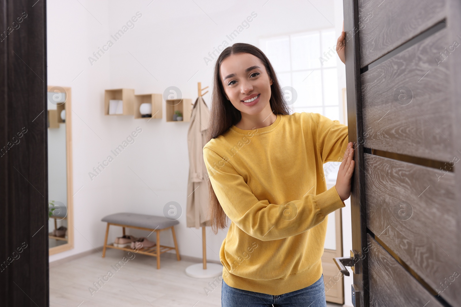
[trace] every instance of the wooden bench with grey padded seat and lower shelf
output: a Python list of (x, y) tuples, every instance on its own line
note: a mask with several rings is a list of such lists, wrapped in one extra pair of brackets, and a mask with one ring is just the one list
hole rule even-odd
[[(133, 249), (131, 248), (114, 246), (113, 243), (107, 244), (109, 226), (113, 225), (122, 227), (123, 235), (125, 235), (125, 228), (142, 229), (150, 231), (151, 233), (155, 232), (157, 235), (156, 246), (138, 249), (137, 253), (157, 257), (157, 269), (160, 269), (160, 254), (163, 254), (168, 250), (176, 249), (177, 261), (181, 260), (177, 248), (176, 234), (174, 232), (174, 225), (179, 224), (177, 220), (169, 220), (163, 216), (121, 212), (107, 215), (103, 217), (101, 221), (107, 222), (106, 238), (104, 239), (104, 247), (102, 250), (103, 258), (106, 256), (106, 248), (122, 249), (133, 252)], [(160, 232), (168, 229), (171, 229), (171, 232), (173, 234), (174, 247), (160, 245)]]

